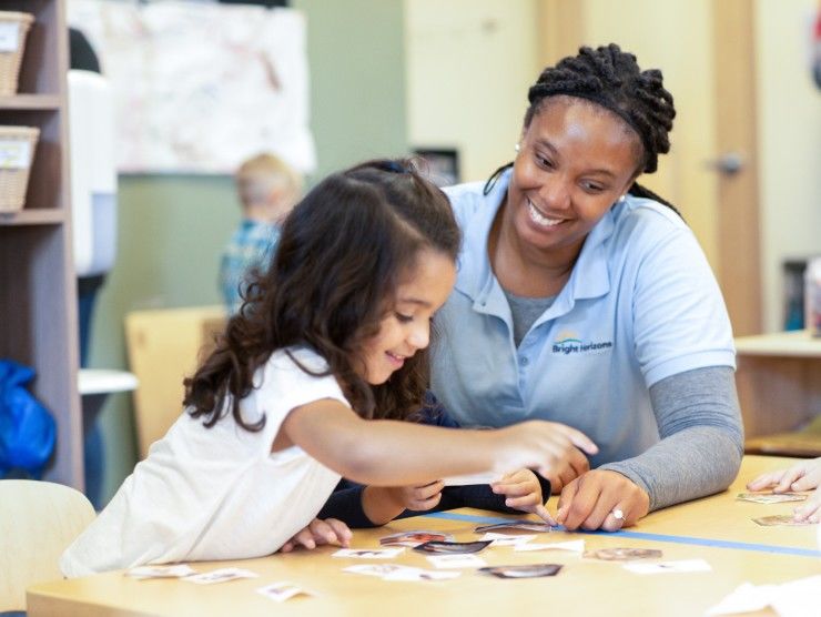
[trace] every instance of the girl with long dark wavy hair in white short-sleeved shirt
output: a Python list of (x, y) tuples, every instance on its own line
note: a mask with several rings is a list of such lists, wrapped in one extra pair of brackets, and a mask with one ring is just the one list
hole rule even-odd
[(186, 380), (185, 413), (63, 554), (63, 574), (259, 557), (326, 536), (344, 544), (344, 526), (312, 523), (341, 476), (418, 486), (525, 467), (544, 475), (576, 447), (595, 453), (580, 432), (547, 422), (396, 422), (420, 406), (430, 320), (458, 249), (444, 193), (404, 162), (321, 182)]

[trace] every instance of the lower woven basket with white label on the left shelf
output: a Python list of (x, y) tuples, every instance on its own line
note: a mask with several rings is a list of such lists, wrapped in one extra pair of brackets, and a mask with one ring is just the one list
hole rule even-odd
[(37, 127), (0, 127), (0, 212), (14, 212), (26, 203), (39, 136)]

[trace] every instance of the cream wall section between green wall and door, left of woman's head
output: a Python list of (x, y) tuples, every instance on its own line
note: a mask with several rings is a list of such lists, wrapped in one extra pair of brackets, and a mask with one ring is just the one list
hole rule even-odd
[(535, 0), (405, 0), (408, 143), (456, 148), (462, 179), (513, 160), (538, 77)]

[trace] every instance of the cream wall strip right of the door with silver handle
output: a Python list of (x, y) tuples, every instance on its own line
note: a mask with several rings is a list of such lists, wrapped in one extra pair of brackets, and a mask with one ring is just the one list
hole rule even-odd
[(810, 73), (818, 0), (757, 0), (764, 327), (783, 320), (781, 263), (821, 254), (821, 90)]

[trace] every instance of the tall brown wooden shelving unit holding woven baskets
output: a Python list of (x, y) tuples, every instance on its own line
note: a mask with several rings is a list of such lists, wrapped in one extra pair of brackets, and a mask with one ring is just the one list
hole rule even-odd
[(82, 489), (65, 8), (63, 0), (3, 0), (0, 9), (34, 16), (19, 93), (0, 97), (0, 124), (40, 128), (26, 206), (0, 214), (0, 357), (37, 371), (31, 390), (57, 419), (57, 447), (44, 479)]

